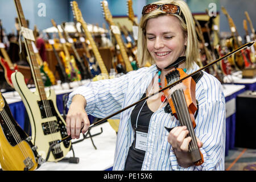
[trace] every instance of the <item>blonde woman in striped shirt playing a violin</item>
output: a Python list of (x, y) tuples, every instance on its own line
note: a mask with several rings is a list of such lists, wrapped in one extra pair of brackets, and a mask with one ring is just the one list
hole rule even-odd
[[(67, 132), (79, 138), (89, 127), (87, 114), (106, 116), (155, 93), (166, 74), (199, 69), (191, 11), (184, 1), (159, 1), (143, 7), (138, 58), (141, 69), (112, 80), (90, 82), (69, 96)], [(151, 67), (143, 68), (146, 62)], [(120, 119), (113, 170), (224, 170), (225, 99), (220, 82), (203, 72), (196, 83), (195, 134), (203, 163), (192, 162), (188, 130), (164, 108), (162, 92), (116, 115)], [(164, 127), (173, 128), (170, 132)]]

